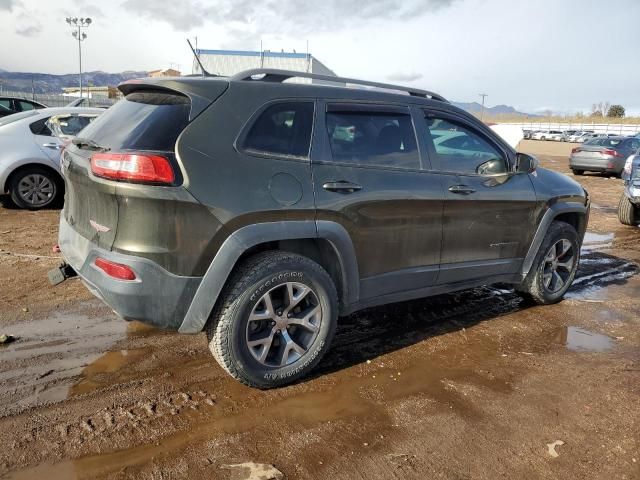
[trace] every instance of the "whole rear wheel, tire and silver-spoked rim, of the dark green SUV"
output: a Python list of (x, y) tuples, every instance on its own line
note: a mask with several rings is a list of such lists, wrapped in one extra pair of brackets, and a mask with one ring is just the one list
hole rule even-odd
[(240, 382), (278, 387), (315, 367), (337, 317), (336, 289), (320, 265), (293, 253), (264, 252), (229, 278), (207, 324), (209, 349)]

